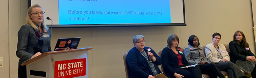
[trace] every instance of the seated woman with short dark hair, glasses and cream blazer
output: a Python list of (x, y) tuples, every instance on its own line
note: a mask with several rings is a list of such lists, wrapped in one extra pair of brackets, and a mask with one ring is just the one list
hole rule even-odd
[(212, 43), (207, 44), (205, 48), (208, 62), (214, 64), (219, 70), (226, 71), (228, 78), (248, 78), (243, 74), (239, 67), (230, 62), (230, 57), (223, 44), (218, 44), (221, 40), (221, 34), (214, 33), (212, 35)]

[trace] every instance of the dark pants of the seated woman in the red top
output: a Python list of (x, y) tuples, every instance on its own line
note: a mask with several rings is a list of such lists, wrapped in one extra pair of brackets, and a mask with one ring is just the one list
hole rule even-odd
[[(182, 78), (202, 78), (202, 73), (200, 67), (196, 65), (195, 67), (188, 68), (174, 68), (173, 69), (177, 74), (180, 74), (184, 77)], [(170, 78), (176, 78), (174, 75), (169, 76)]]

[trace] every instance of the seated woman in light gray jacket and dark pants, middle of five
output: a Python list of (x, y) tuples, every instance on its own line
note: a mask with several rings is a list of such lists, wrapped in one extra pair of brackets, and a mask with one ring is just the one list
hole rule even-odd
[(214, 64), (208, 63), (202, 47), (199, 46), (200, 43), (197, 36), (189, 36), (188, 43), (189, 45), (184, 49), (184, 54), (190, 65), (199, 64), (201, 73), (208, 74), (210, 78), (217, 78), (217, 76), (219, 78), (226, 78)]

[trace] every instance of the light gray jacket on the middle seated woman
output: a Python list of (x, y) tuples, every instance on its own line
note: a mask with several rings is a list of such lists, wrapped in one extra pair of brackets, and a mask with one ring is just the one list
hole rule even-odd
[(187, 62), (191, 65), (198, 64), (200, 60), (208, 62), (204, 56), (204, 51), (201, 46), (197, 46), (198, 49), (194, 48), (190, 44), (184, 49), (184, 54)]

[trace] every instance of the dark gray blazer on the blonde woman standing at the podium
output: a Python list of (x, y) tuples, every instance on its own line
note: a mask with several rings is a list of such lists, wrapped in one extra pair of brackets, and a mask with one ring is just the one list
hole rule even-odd
[[(50, 29), (46, 27), (46, 31), (47, 32), (42, 31), (42, 33), (40, 33), (28, 24), (20, 27), (16, 51), (17, 57), (20, 58), (19, 65), (30, 59), (37, 52), (45, 53), (51, 51)], [(43, 37), (43, 34), (48, 34), (49, 37)]]

